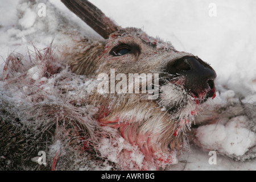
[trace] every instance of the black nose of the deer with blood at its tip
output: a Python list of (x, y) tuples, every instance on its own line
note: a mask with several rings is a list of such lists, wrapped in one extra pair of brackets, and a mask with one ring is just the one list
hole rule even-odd
[(203, 60), (185, 56), (167, 65), (167, 72), (175, 76), (183, 76), (183, 86), (196, 97), (213, 97), (214, 78), (216, 72)]

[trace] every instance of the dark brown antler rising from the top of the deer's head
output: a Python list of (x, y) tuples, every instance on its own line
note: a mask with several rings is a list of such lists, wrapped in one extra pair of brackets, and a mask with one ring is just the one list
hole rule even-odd
[(121, 28), (87, 0), (61, 0), (61, 2), (104, 39), (108, 39), (110, 34)]

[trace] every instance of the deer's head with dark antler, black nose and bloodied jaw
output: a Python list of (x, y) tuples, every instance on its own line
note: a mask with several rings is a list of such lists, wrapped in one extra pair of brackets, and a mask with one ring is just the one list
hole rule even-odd
[[(102, 126), (118, 129), (123, 138), (137, 144), (146, 158), (176, 150), (184, 143), (184, 131), (208, 98), (214, 98), (216, 73), (209, 64), (170, 42), (148, 36), (139, 28), (122, 28), (85, 0), (61, 0), (73, 13), (100, 34), (105, 41), (85, 40), (84, 52), (72, 57), (73, 72), (97, 78), (122, 74), (158, 74), (158, 97), (145, 94), (95, 92), (87, 104), (101, 106), (97, 119)], [(89, 46), (88, 46), (89, 45)], [(154, 75), (154, 77), (156, 77)], [(116, 77), (115, 77), (116, 78)], [(119, 78), (119, 80), (121, 80)], [(126, 80), (127, 81), (127, 80)], [(114, 80), (114, 86), (117, 85)], [(110, 83), (111, 88), (113, 83)], [(147, 93), (152, 95), (152, 93)]]

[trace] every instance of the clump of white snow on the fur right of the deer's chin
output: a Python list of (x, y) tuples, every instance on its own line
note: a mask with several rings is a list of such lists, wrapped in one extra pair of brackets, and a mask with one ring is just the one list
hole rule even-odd
[(204, 148), (241, 156), (256, 144), (256, 134), (245, 128), (247, 119), (240, 116), (224, 126), (220, 123), (200, 126), (196, 137)]

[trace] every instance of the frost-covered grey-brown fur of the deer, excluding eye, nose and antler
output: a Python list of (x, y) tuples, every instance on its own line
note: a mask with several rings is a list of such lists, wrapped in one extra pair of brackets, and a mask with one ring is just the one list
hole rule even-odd
[[(28, 4), (31, 9), (37, 5)], [(255, 105), (243, 104), (220, 85), (216, 98), (201, 105), (170, 80), (160, 87), (158, 100), (148, 100), (148, 93), (97, 92), (97, 75), (109, 75), (110, 68), (116, 74), (159, 73), (161, 78), (167, 63), (193, 55), (137, 28), (121, 29), (108, 40), (85, 38), (56, 16), (62, 25), (56, 32), (72, 44), (53, 41), (6, 60), (0, 86), (1, 169), (163, 169), (189, 150), (189, 140), (235, 159), (255, 157)], [(138, 45), (142, 55), (110, 56), (120, 43)], [(220, 98), (223, 102), (215, 102)], [(209, 143), (207, 126), (210, 131), (218, 126), (217, 135), (239, 126), (250, 131), (250, 142), (244, 151), (228, 151), (221, 144), (226, 135)], [(35, 163), (39, 151), (46, 151), (46, 166)]]

